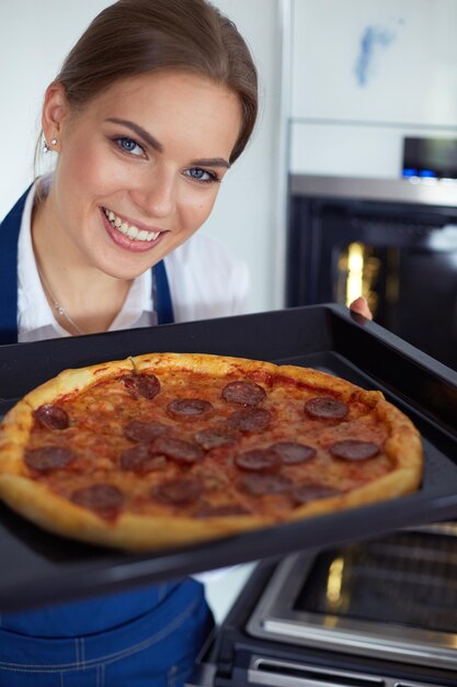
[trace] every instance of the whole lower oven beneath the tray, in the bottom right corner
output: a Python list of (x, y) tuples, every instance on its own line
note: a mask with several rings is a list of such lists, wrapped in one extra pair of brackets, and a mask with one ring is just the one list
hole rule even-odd
[(457, 526), (260, 564), (192, 686), (457, 685)]

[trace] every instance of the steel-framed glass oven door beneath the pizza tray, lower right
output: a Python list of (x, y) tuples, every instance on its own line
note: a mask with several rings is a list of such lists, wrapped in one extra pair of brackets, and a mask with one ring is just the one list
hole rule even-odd
[[(249, 623), (253, 637), (457, 676), (457, 528), (402, 530), (277, 567)], [(456, 677), (457, 683), (457, 677)]]

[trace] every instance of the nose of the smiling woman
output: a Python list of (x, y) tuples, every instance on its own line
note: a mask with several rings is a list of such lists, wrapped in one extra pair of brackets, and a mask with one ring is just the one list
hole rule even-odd
[(155, 168), (130, 190), (135, 204), (149, 217), (163, 218), (171, 215), (175, 206), (175, 179), (165, 170)]

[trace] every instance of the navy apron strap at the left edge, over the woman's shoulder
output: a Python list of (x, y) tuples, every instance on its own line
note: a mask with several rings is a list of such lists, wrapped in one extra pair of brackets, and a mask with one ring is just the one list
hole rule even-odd
[(18, 240), (28, 191), (0, 224), (0, 345), (18, 341)]

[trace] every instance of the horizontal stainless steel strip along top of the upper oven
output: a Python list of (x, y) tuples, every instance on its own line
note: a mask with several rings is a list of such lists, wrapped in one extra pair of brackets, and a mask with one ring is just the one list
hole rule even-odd
[(387, 201), (457, 207), (456, 179), (369, 179), (292, 174), (289, 192), (309, 198)]

